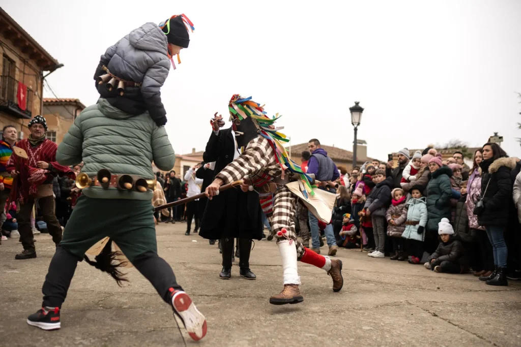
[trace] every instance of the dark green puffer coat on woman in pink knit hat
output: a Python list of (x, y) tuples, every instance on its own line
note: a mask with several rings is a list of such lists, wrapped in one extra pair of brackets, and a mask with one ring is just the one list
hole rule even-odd
[(427, 185), (427, 230), (430, 232), (438, 232), (438, 223), (442, 218), (451, 219), (451, 176), (452, 170), (447, 166), (442, 166), (431, 174), (432, 178)]

